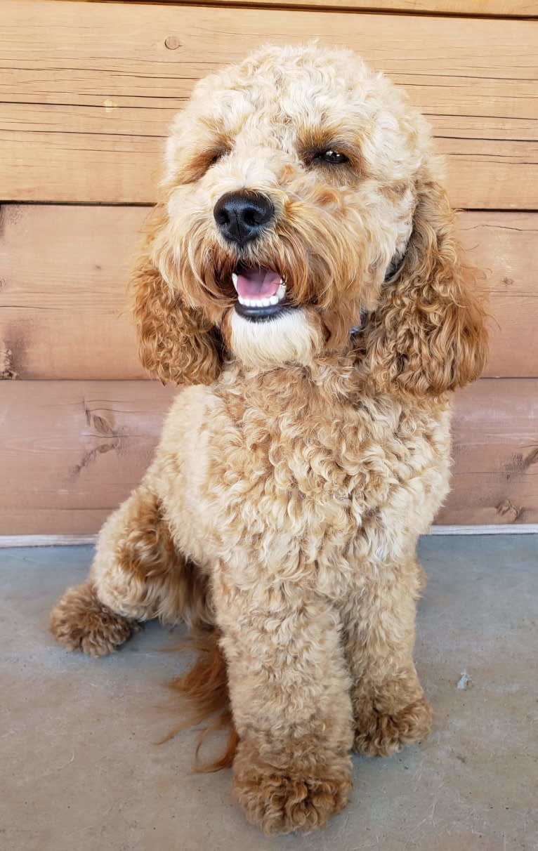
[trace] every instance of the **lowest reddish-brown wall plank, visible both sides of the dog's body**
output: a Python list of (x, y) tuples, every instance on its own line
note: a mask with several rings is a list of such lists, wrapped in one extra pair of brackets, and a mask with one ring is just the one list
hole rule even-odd
[[(0, 534), (91, 534), (140, 481), (175, 391), (148, 381), (4, 383)], [(457, 395), (437, 523), (538, 522), (538, 380)]]

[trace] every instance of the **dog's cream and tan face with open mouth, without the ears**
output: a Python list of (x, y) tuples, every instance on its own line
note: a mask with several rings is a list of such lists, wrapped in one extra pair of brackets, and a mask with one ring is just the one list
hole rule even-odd
[(169, 140), (163, 276), (243, 361), (342, 346), (405, 251), (426, 145), (349, 52), (264, 49), (207, 77)]

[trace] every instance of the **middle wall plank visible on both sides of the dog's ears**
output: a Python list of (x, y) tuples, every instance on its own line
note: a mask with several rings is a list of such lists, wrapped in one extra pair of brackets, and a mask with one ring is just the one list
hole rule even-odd
[[(125, 283), (146, 208), (4, 205), (0, 374), (143, 378)], [(538, 214), (460, 216), (469, 260), (487, 270), (489, 376), (538, 377)]]

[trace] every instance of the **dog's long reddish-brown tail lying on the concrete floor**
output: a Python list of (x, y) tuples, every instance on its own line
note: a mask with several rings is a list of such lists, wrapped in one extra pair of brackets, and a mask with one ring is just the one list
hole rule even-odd
[[(194, 758), (197, 772), (220, 771), (229, 768), (238, 747), (238, 733), (233, 724), (226, 660), (219, 645), (220, 633), (214, 627), (198, 628), (181, 649), (193, 649), (197, 659), (191, 668), (170, 683), (186, 705), (186, 717), (165, 738), (168, 741), (180, 730), (203, 724), (200, 729)], [(228, 729), (226, 751), (212, 762), (202, 762), (200, 751), (209, 734)]]

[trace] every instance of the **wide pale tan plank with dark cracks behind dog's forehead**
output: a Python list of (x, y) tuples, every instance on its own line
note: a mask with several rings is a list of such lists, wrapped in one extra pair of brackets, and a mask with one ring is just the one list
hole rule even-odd
[(6, 200), (152, 203), (169, 118), (197, 78), (257, 44), (318, 37), (426, 112), (455, 205), (538, 206), (533, 22), (27, 0), (2, 28)]

